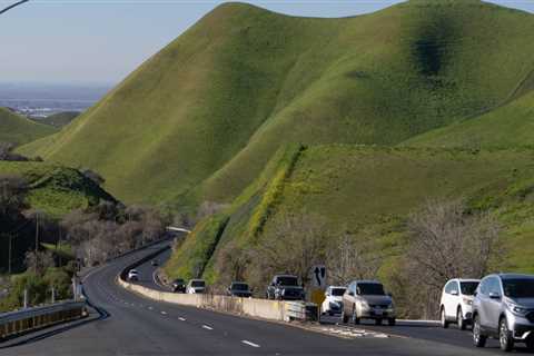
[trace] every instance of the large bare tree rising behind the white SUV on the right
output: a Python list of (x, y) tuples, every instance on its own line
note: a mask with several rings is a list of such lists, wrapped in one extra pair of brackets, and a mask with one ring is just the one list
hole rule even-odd
[(462, 201), (429, 201), (408, 220), (407, 280), (423, 301), (424, 316), (437, 315), (436, 300), (451, 278), (481, 278), (500, 255), (501, 226), (487, 212), (466, 214)]

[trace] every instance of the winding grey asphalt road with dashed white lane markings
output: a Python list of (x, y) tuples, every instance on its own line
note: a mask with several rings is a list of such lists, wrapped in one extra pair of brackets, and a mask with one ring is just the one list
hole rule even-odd
[[(0, 355), (439, 356), (495, 353), (495, 349), (478, 350), (471, 347), (468, 333), (457, 335), (456, 330), (422, 327), (417, 328), (419, 332), (413, 332), (414, 335), (417, 334), (416, 337), (404, 335), (344, 339), (278, 323), (156, 303), (131, 294), (116, 284), (116, 277), (125, 266), (157, 248), (160, 246), (122, 257), (93, 270), (86, 278), (86, 294), (90, 303), (99, 308), (100, 314), (95, 313), (83, 322), (0, 344)], [(150, 261), (138, 269), (141, 273), (140, 283), (151, 284), (154, 267)], [(380, 327), (379, 330), (402, 335), (402, 330), (408, 328)], [(426, 335), (434, 332), (449, 333), (451, 337), (419, 337), (422, 333)]]

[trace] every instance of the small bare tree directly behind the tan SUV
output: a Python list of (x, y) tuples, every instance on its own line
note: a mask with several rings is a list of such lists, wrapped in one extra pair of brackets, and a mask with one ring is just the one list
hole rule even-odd
[(376, 278), (380, 259), (373, 246), (373, 241), (366, 236), (356, 238), (348, 233), (329, 244), (327, 249), (329, 283), (346, 285), (353, 279)]

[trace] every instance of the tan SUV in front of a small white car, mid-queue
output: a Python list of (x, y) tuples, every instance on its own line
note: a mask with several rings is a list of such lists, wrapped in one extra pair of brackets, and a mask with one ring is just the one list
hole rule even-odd
[(386, 294), (384, 286), (376, 280), (355, 280), (350, 283), (343, 295), (343, 323), (350, 319), (359, 324), (362, 319), (373, 319), (376, 325), (387, 319), (395, 325), (396, 314), (393, 298)]

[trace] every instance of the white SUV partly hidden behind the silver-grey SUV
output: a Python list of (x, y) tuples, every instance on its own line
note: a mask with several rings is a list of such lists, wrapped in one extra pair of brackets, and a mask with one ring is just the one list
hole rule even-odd
[(445, 284), (439, 301), (442, 326), (447, 328), (456, 323), (459, 329), (465, 330), (473, 320), (473, 299), (479, 279), (451, 279)]

